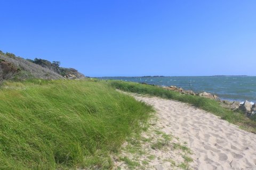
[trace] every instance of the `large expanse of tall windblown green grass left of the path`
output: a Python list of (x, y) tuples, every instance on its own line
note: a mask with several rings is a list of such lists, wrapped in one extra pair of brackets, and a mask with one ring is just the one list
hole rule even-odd
[(0, 91), (0, 169), (110, 169), (152, 108), (106, 82), (6, 82)]

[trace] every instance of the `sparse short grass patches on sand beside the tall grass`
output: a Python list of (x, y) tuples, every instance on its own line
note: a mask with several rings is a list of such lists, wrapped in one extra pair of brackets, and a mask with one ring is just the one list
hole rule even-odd
[(145, 124), (147, 130), (141, 135), (134, 134), (126, 139), (114, 158), (114, 169), (189, 168), (193, 161), (189, 157), (190, 150), (172, 135), (164, 133), (158, 123), (155, 116)]

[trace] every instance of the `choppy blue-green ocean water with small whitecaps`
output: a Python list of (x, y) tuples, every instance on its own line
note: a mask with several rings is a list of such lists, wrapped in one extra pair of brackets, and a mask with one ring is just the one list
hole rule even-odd
[(195, 92), (210, 92), (221, 99), (256, 102), (256, 77), (214, 76), (214, 77), (104, 77), (133, 82), (146, 82), (159, 86), (177, 86)]

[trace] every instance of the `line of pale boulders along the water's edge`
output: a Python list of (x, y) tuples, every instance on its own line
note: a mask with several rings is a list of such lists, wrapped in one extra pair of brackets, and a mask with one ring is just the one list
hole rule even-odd
[(210, 94), (209, 92), (196, 93), (192, 90), (184, 90), (182, 88), (178, 88), (176, 86), (163, 86), (162, 88), (172, 91), (177, 91), (180, 94), (193, 95), (193, 96), (201, 96), (209, 99), (216, 100), (220, 103), (222, 107), (228, 108), (231, 111), (241, 111), (247, 117), (253, 118), (256, 120), (256, 103), (252, 103), (250, 101), (245, 100), (240, 103), (239, 101), (229, 101), (229, 100), (221, 100), (217, 95)]

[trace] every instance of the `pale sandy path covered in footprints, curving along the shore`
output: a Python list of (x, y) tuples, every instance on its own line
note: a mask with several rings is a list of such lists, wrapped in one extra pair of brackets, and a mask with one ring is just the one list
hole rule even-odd
[(153, 105), (163, 131), (188, 143), (193, 169), (255, 169), (256, 135), (179, 101), (134, 96)]

